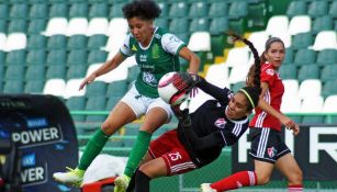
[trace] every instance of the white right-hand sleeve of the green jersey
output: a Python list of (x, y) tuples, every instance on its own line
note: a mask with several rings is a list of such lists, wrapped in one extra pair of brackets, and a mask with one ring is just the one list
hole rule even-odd
[(165, 52), (170, 53), (172, 55), (178, 55), (180, 49), (186, 46), (186, 44), (176, 35), (167, 33), (164, 34), (161, 37), (161, 46)]

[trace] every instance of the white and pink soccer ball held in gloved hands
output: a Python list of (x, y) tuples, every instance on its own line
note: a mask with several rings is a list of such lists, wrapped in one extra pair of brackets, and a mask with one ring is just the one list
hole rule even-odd
[(184, 90), (179, 91), (175, 84), (175, 75), (177, 72), (168, 72), (161, 77), (158, 83), (159, 97), (168, 104), (178, 105), (181, 104), (188, 98)]

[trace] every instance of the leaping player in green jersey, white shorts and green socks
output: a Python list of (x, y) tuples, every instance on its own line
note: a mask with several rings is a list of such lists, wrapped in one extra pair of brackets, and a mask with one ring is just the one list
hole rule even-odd
[(200, 59), (186, 44), (173, 34), (154, 25), (160, 9), (151, 0), (134, 0), (123, 7), (131, 34), (124, 41), (120, 52), (98, 70), (87, 77), (80, 86), (92, 82), (116, 67), (127, 57), (135, 55), (141, 72), (116, 106), (111, 111), (101, 128), (88, 142), (78, 167), (67, 172), (54, 173), (54, 179), (70, 185), (80, 185), (86, 169), (99, 155), (109, 136), (120, 127), (145, 114), (145, 120), (131, 151), (124, 174), (115, 180), (116, 191), (125, 190), (130, 177), (138, 167), (147, 151), (151, 134), (170, 121), (171, 109), (157, 92), (159, 79), (169, 71), (179, 71), (179, 56), (189, 61), (189, 72), (196, 74)]

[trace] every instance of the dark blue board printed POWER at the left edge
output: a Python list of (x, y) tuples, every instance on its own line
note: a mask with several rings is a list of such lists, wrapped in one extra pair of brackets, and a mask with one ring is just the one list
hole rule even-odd
[(0, 138), (21, 151), (24, 192), (74, 191), (53, 181), (53, 172), (78, 162), (77, 136), (64, 103), (52, 95), (0, 95)]

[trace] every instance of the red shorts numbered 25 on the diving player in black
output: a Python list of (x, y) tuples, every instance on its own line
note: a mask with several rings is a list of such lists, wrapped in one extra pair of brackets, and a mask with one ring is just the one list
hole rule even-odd
[(168, 176), (180, 174), (196, 169), (190, 155), (179, 142), (177, 129), (169, 131), (153, 140), (148, 150), (154, 158), (162, 157)]

